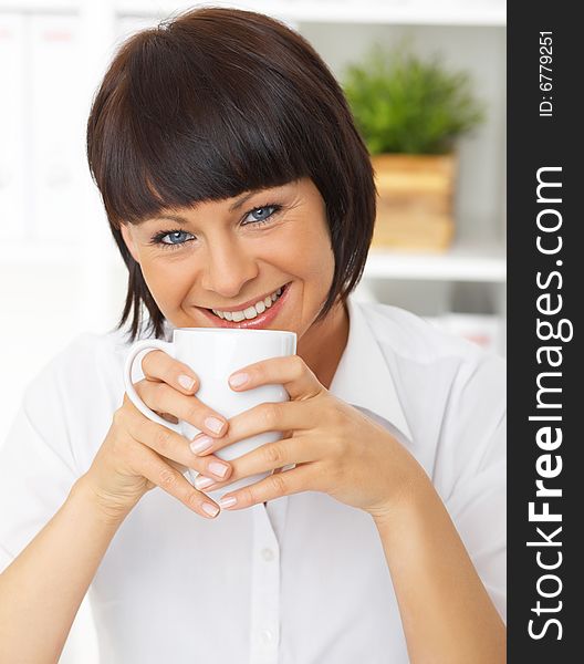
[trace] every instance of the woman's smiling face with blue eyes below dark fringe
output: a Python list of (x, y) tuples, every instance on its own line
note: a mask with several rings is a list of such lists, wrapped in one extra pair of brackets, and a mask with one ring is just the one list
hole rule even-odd
[(122, 234), (177, 328), (290, 330), (300, 340), (333, 280), (325, 205), (310, 178), (167, 209)]

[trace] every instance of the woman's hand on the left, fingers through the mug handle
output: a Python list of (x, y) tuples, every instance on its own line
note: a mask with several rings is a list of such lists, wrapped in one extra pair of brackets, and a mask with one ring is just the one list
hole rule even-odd
[[(229, 426), (226, 418), (194, 396), (199, 380), (186, 364), (155, 350), (143, 357), (142, 369), (145, 378), (134, 386), (152, 411), (184, 419), (211, 437), (226, 433)], [(185, 376), (194, 380), (190, 388), (185, 387), (188, 384)], [(217, 421), (222, 428), (213, 430), (209, 424), (212, 427)], [(124, 394), (124, 403), (114, 413), (107, 436), (82, 480), (113, 518), (124, 518), (156, 486), (202, 517), (217, 516), (217, 504), (182, 476), (186, 468), (219, 480), (227, 479), (232, 471), (228, 461), (213, 455), (197, 456), (187, 438), (148, 419)], [(223, 476), (218, 474), (222, 468), (227, 468)]]

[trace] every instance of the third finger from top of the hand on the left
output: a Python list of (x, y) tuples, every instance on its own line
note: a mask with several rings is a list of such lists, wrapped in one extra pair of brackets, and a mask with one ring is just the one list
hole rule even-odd
[(213, 455), (199, 457), (191, 452), (189, 442), (184, 436), (148, 419), (137, 409), (136, 415), (128, 418), (126, 428), (135, 440), (185, 468), (192, 468), (218, 480), (231, 476), (232, 467), (229, 461), (223, 461)]

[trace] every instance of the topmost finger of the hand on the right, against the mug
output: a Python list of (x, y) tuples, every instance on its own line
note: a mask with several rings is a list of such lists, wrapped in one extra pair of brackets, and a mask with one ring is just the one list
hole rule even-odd
[(231, 374), (228, 382), (237, 392), (258, 385), (283, 385), (293, 400), (310, 398), (326, 390), (300, 355), (270, 357), (248, 364)]

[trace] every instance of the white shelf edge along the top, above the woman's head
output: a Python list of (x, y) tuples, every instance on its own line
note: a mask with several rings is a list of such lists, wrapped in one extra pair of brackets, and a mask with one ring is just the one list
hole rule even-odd
[[(116, 10), (124, 15), (170, 14), (192, 7), (192, 2), (173, 0), (118, 0)], [(290, 21), (326, 23), (387, 23), (399, 25), (483, 25), (507, 24), (507, 6), (501, 1), (430, 2), (416, 0), (216, 0), (197, 4), (238, 7), (280, 17)]]

